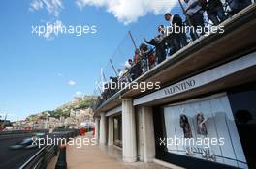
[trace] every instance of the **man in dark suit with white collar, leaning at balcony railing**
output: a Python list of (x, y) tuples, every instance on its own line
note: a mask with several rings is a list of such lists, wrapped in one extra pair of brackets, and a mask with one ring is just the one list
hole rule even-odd
[(165, 14), (165, 20), (170, 22), (170, 26), (173, 26), (173, 30), (174, 29), (176, 30), (176, 28), (179, 28), (178, 30), (180, 30), (179, 32), (176, 31), (176, 34), (175, 34), (176, 42), (178, 42), (176, 45), (176, 51), (181, 47), (186, 46), (187, 38), (186, 38), (186, 33), (183, 31), (183, 22), (180, 15), (178, 14), (172, 15), (170, 13), (167, 13)]

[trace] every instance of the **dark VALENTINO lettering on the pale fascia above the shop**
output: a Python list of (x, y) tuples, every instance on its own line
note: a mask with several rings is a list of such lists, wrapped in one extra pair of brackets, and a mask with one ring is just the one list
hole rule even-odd
[(196, 85), (196, 81), (194, 79), (189, 79), (164, 89), (164, 92), (165, 92), (165, 95), (174, 95), (176, 93), (180, 93), (188, 89), (192, 89), (195, 87), (195, 85)]

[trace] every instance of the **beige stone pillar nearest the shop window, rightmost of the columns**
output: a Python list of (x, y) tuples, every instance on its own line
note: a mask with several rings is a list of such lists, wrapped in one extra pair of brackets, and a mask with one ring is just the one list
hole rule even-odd
[(144, 162), (152, 162), (155, 158), (155, 138), (152, 107), (142, 106), (142, 134), (144, 142)]

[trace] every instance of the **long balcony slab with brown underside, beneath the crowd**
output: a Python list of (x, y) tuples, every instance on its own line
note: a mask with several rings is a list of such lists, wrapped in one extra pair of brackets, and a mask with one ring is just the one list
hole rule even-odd
[[(224, 26), (223, 34), (210, 34), (190, 41), (188, 45), (168, 55), (166, 60), (154, 68), (144, 71), (133, 82), (161, 82), (161, 88), (163, 88), (255, 50), (256, 37), (253, 36), (256, 28), (255, 9), (256, 6), (253, 3), (239, 13), (230, 15), (228, 19), (219, 24), (219, 26)], [(126, 74), (129, 74), (129, 71)], [(253, 79), (253, 77), (244, 76), (242, 80)], [(223, 87), (220, 85), (218, 88)], [(142, 93), (138, 89), (128, 87), (106, 90), (98, 99), (96, 112), (108, 111), (116, 107), (121, 103), (120, 97), (136, 99), (153, 91)]]

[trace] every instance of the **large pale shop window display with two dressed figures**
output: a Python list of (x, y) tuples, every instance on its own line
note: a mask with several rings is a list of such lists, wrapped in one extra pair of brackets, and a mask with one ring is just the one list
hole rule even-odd
[(165, 123), (162, 140), (168, 153), (248, 168), (226, 95), (193, 99), (162, 109)]

